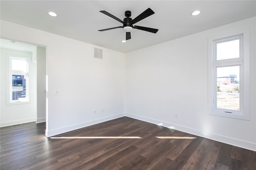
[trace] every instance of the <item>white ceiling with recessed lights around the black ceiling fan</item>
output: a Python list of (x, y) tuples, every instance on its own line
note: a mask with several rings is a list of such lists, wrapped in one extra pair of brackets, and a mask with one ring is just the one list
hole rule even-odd
[[(123, 20), (126, 10), (135, 18), (147, 8), (155, 14), (136, 25), (157, 28), (156, 34), (134, 29), (122, 43), (122, 28), (98, 31), (122, 26), (100, 10)], [(126, 53), (256, 16), (256, 0), (1, 0), (0, 10), (2, 20)], [(191, 16), (194, 10), (201, 13)]]

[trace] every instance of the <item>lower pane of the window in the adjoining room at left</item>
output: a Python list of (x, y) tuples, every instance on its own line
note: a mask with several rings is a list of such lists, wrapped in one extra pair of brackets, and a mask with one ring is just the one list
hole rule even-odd
[(12, 75), (12, 100), (26, 100), (26, 75)]

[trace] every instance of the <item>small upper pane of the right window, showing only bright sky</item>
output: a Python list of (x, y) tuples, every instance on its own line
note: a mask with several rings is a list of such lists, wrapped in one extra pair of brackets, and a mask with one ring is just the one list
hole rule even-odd
[(231, 59), (240, 57), (240, 40), (232, 40), (216, 44), (216, 59)]

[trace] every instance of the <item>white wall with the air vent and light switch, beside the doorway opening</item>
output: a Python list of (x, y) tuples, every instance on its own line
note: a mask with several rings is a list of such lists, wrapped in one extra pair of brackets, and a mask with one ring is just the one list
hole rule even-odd
[(124, 53), (4, 20), (1, 36), (46, 46), (46, 136), (124, 116)]

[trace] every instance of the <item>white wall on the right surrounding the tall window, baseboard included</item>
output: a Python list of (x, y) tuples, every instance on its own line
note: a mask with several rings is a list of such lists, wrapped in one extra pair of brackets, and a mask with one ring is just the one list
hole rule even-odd
[[(242, 28), (251, 38), (250, 121), (208, 115), (208, 37)], [(256, 150), (255, 28), (256, 17), (126, 53), (126, 115)]]

